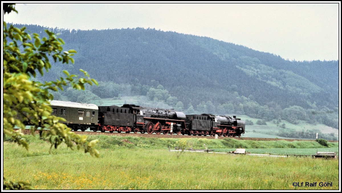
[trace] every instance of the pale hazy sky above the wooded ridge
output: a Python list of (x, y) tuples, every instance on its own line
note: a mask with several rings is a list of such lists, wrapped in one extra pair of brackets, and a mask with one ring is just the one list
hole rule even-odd
[[(2, 1), (4, 2), (4, 1)], [(155, 28), (207, 36), (289, 60), (338, 60), (340, 4), (17, 3), (3, 20), (64, 29)], [(91, 1), (89, 1), (91, 2)]]

